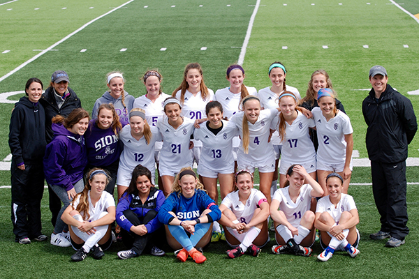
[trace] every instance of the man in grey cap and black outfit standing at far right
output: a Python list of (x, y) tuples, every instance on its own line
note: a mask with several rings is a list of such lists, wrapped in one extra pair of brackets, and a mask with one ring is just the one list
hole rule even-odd
[(382, 66), (369, 70), (372, 90), (362, 102), (367, 123), (367, 151), (371, 160), (372, 192), (380, 213), (381, 229), (372, 239), (390, 239), (387, 247), (404, 244), (409, 234), (406, 205), (407, 146), (418, 123), (411, 101), (392, 89)]

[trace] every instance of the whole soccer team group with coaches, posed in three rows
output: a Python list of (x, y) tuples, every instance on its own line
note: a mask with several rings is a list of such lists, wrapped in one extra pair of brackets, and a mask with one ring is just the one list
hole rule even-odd
[[(217, 241), (232, 259), (261, 250), (315, 252), (318, 262), (357, 257), (360, 217), (348, 195), (353, 127), (331, 77), (313, 70), (304, 93), (273, 61), (260, 73), (271, 84), (256, 89), (236, 63), (225, 72), (229, 86), (214, 92), (200, 63), (189, 63), (173, 92), (162, 91), (158, 69), (142, 73), (142, 96), (125, 91), (124, 73), (112, 71), (91, 112), (64, 70), (22, 81), (8, 135), (15, 242), (73, 248), (74, 262), (106, 257), (116, 245), (119, 259), (202, 264)], [(383, 66), (365, 69), (367, 79), (362, 115), (381, 227), (364, 233), (396, 248), (409, 234), (406, 159), (418, 125)], [(45, 185), (51, 235), (41, 225)]]

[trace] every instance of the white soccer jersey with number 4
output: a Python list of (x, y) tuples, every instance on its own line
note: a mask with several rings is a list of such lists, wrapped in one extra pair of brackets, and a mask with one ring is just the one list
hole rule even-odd
[[(272, 158), (275, 160), (274, 147), (272, 142), (267, 142), (270, 135), (270, 126), (272, 121), (277, 121), (277, 109), (261, 110), (258, 120), (252, 124), (249, 121), (249, 153), (244, 154), (243, 144), (239, 146), (237, 160), (246, 160), (248, 162), (265, 162)], [(244, 112), (237, 112), (231, 117), (230, 121), (240, 130), (243, 137), (243, 117)]]

